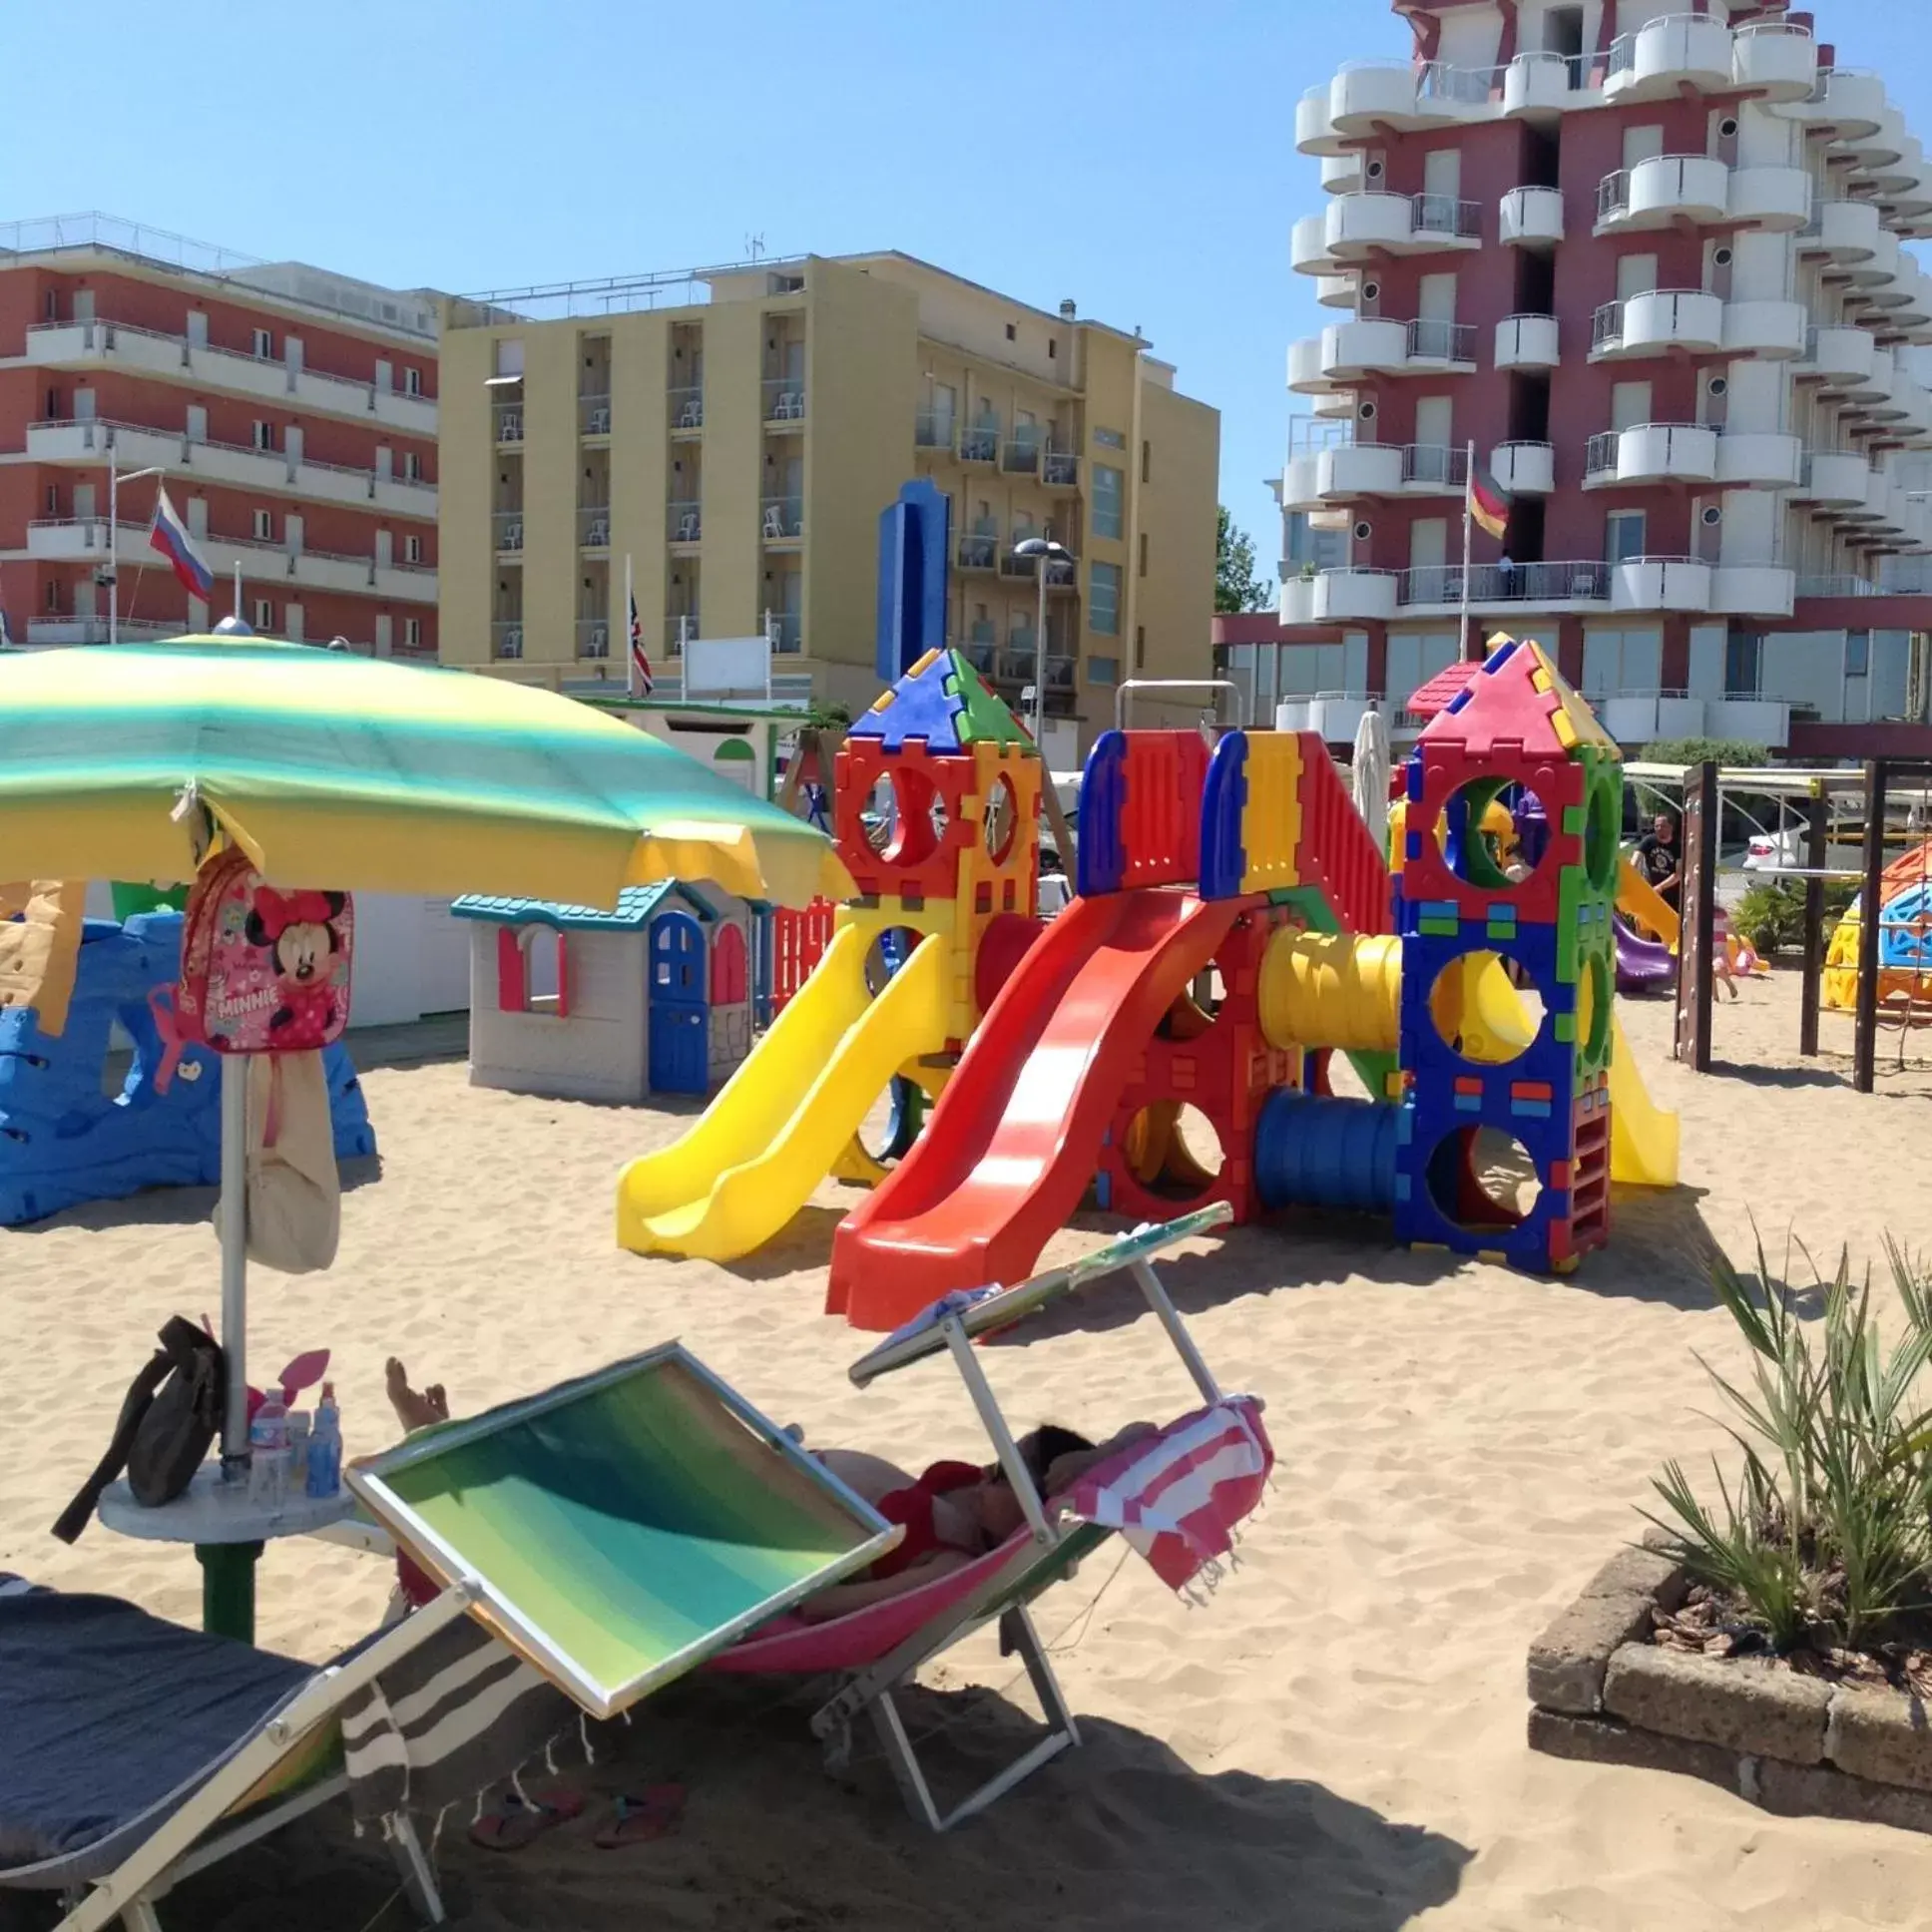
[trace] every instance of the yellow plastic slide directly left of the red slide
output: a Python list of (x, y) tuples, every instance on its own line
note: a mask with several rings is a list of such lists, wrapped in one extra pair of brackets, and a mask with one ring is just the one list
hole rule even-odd
[(833, 1171), (893, 1074), (945, 1047), (945, 941), (922, 939), (873, 999), (871, 939), (840, 927), (703, 1119), (624, 1169), (620, 1246), (707, 1262), (759, 1248)]

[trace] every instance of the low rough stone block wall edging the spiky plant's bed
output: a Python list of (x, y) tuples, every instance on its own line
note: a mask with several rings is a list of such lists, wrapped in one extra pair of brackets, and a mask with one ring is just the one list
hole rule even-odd
[(1685, 1573), (1623, 1549), (1530, 1644), (1530, 1748), (1683, 1772), (1770, 1812), (1932, 1832), (1932, 1718), (1899, 1690), (1828, 1685), (1758, 1658), (1660, 1650), (1650, 1611)]

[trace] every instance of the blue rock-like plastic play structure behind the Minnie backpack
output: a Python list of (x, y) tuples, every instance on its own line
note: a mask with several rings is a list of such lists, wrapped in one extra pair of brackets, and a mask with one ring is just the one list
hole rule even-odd
[[(87, 920), (66, 1024), (0, 1012), (0, 1227), (141, 1188), (220, 1179), (220, 1063), (172, 1039), (182, 914)], [(126, 1076), (110, 1061), (131, 1045)], [(375, 1153), (348, 1049), (323, 1053), (336, 1159)]]

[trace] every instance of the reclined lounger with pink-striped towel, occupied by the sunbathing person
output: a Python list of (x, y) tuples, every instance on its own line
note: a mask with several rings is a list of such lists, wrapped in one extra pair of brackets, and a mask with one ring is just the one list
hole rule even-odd
[[(842, 1683), (837, 1696), (811, 1719), (829, 1766), (844, 1768), (852, 1748), (852, 1723), (869, 1716), (908, 1810), (933, 1832), (947, 1832), (985, 1810), (1051, 1758), (1078, 1745), (1080, 1729), (1028, 1605), (1068, 1578), (1084, 1557), (1117, 1532), (1177, 1590), (1186, 1590), (1202, 1577), (1215, 1580), (1219, 1559), (1231, 1553), (1235, 1526), (1260, 1505), (1273, 1468), (1262, 1403), (1252, 1395), (1221, 1393), (1151, 1265), (1159, 1250), (1221, 1227), (1231, 1217), (1231, 1209), (1217, 1204), (1163, 1227), (1136, 1229), (1068, 1267), (1016, 1287), (949, 1294), (856, 1362), (852, 1379), (866, 1387), (879, 1376), (949, 1352), (966, 1379), (995, 1455), (1026, 1513), (1026, 1524), (999, 1549), (964, 1569), (947, 1571), (920, 1588), (846, 1617), (829, 1623), (775, 1619), (719, 1652), (707, 1669), (838, 1675)], [(1088, 1470), (1066, 1495), (1041, 1499), (1020, 1461), (974, 1341), (1010, 1327), (1084, 1283), (1122, 1269), (1134, 1275), (1148, 1306), (1167, 1329), (1204, 1406)], [(912, 1683), (923, 1663), (995, 1621), (1003, 1654), (1018, 1656), (1026, 1667), (1047, 1729), (1012, 1764), (951, 1810), (941, 1810), (895, 1692)]]

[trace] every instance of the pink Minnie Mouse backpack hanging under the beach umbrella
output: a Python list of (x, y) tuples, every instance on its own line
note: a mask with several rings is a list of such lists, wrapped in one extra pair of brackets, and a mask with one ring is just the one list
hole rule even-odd
[(230, 848), (203, 866), (182, 927), (184, 1039), (216, 1053), (315, 1053), (350, 1020), (348, 893), (282, 893)]

